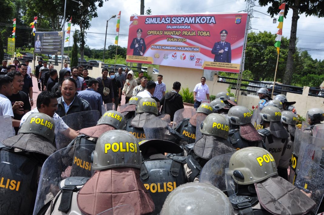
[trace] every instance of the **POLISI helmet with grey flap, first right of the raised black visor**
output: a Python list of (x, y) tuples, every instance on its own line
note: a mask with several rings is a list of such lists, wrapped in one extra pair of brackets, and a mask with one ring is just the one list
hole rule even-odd
[(229, 121), (221, 114), (209, 114), (201, 124), (200, 131), (203, 134), (220, 137), (227, 140)]

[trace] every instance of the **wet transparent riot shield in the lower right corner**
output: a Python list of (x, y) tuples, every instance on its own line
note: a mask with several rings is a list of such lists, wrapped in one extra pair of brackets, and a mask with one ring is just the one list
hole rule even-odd
[(315, 144), (306, 147), (300, 171), (295, 179), (295, 186), (316, 202), (312, 210), (314, 214), (323, 212), (322, 209), (319, 210), (324, 195), (323, 150)]

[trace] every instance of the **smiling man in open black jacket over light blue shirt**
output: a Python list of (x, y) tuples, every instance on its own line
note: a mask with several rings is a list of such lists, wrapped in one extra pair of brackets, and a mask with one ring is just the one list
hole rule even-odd
[(57, 98), (58, 108), (55, 111), (60, 117), (91, 110), (89, 102), (75, 95), (76, 82), (73, 78), (64, 79), (61, 85), (61, 93), (62, 96)]

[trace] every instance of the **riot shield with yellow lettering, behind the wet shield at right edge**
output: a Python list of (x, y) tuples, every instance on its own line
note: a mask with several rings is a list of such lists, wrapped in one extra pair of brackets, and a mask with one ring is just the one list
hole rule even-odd
[(300, 171), (306, 147), (314, 144), (317, 147), (324, 148), (324, 140), (318, 139), (296, 128), (294, 149), (290, 161), (289, 182), (295, 184), (295, 179)]

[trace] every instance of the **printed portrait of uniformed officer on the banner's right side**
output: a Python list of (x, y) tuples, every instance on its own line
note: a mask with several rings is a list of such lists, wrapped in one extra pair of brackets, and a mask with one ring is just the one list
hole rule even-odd
[(225, 42), (227, 30), (221, 30), (221, 41), (215, 42), (212, 53), (215, 55), (214, 62), (230, 63), (232, 60), (231, 44)]

